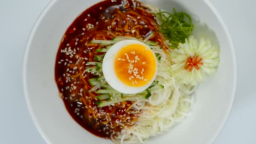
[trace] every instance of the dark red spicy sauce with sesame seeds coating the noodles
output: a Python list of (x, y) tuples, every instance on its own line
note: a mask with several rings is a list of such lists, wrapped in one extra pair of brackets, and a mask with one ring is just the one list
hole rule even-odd
[[(115, 2), (112, 2), (115, 1)], [(88, 8), (78, 16), (65, 32), (56, 56), (55, 80), (67, 111), (87, 131), (109, 138), (124, 126), (133, 125), (141, 111), (130, 109), (133, 102), (98, 108), (96, 93), (89, 92), (89, 78), (83, 72), (86, 62), (94, 61), (95, 50), (102, 46), (91, 44), (93, 39), (111, 40), (115, 36), (132, 36), (163, 42), (154, 16), (139, 8), (133, 0), (105, 0)], [(132, 30), (136, 30), (135, 32)], [(104, 47), (104, 46), (103, 46)]]

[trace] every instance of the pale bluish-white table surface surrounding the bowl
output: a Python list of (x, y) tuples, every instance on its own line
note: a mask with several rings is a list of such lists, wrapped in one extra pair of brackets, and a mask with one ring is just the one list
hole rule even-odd
[[(210, 1), (232, 36), (238, 74), (232, 112), (213, 144), (256, 144), (256, 0)], [(29, 115), (21, 69), (29, 32), (49, 2), (0, 0), (0, 144), (46, 144)]]

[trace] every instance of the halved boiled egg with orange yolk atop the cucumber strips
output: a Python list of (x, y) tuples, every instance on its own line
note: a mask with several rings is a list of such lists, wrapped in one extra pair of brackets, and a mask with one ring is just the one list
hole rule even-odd
[(137, 40), (115, 43), (103, 59), (103, 75), (115, 90), (133, 94), (147, 89), (157, 75), (157, 58), (146, 44)]

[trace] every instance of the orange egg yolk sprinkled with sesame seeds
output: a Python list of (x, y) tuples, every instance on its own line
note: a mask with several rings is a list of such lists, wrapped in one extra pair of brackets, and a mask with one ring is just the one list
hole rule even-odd
[(144, 45), (127, 45), (118, 51), (115, 57), (115, 74), (126, 85), (143, 86), (155, 75), (154, 57), (155, 54)]

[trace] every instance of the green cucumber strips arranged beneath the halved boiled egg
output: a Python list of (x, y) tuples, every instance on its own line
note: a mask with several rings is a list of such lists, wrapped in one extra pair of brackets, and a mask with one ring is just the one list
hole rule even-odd
[[(152, 37), (154, 34), (155, 33), (152, 32), (147, 38), (139, 41), (148, 45), (149, 48), (161, 49), (161, 47), (158, 46), (159, 43), (149, 40), (150, 37)], [(87, 68), (88, 72), (93, 72), (98, 75), (98, 77), (91, 78), (88, 80), (89, 84), (93, 86), (93, 88), (90, 91), (98, 94), (98, 96), (96, 96), (96, 99), (98, 99), (98, 101), (96, 102), (98, 107), (105, 107), (122, 101), (138, 101), (141, 99), (148, 99), (151, 96), (151, 92), (164, 88), (163, 85), (158, 84), (158, 81), (154, 81), (152, 85), (149, 86), (149, 88), (140, 93), (124, 94), (119, 91), (116, 91), (115, 89), (111, 88), (110, 85), (108, 85), (102, 73), (102, 61), (105, 53), (109, 50), (109, 48), (113, 44), (122, 40), (138, 39), (136, 39), (135, 37), (117, 36), (112, 40), (91, 40), (90, 42), (99, 45), (106, 45), (105, 48), (99, 48), (96, 50), (96, 52), (99, 53), (99, 55), (94, 55), (94, 61), (86, 63), (86, 65), (89, 67)], [(159, 53), (155, 53), (155, 56), (157, 57), (158, 61), (161, 59)]]

